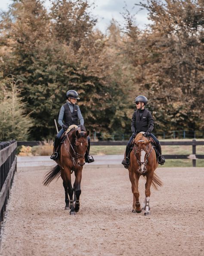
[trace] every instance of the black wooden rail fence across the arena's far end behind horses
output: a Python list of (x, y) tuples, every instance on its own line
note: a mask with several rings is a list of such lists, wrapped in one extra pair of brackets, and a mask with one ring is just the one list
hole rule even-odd
[[(191, 159), (192, 166), (196, 167), (196, 159), (204, 159), (203, 155), (196, 154), (196, 146), (204, 145), (204, 141), (161, 141), (161, 145), (164, 146), (192, 146), (192, 154), (190, 155), (164, 155), (165, 159)], [(43, 141), (18, 141), (18, 146), (36, 146), (42, 145)], [(116, 145), (126, 145), (127, 141), (91, 141), (93, 146), (116, 146)]]

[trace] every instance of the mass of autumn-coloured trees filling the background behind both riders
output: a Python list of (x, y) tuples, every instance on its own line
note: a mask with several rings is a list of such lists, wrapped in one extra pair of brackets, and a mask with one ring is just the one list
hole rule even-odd
[(90, 131), (129, 133), (133, 99), (149, 99), (156, 131), (203, 129), (203, 1), (141, 4), (151, 24), (125, 16), (107, 35), (87, 0), (15, 0), (0, 21), (3, 78), (12, 74), (31, 113), (30, 139), (52, 138), (67, 90), (77, 90)]

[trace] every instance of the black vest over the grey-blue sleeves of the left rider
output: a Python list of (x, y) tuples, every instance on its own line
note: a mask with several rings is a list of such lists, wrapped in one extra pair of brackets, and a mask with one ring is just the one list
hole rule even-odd
[(63, 106), (65, 108), (64, 117), (63, 117), (63, 121), (65, 122), (65, 125), (67, 126), (79, 125), (79, 120), (77, 115), (77, 105), (74, 104), (73, 113), (71, 113), (71, 110), (67, 103), (65, 103)]

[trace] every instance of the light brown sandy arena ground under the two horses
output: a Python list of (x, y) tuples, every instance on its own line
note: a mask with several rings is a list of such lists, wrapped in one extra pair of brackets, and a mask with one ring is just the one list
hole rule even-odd
[[(151, 215), (133, 214), (128, 171), (85, 166), (80, 211), (64, 211), (62, 179), (42, 185), (45, 170), (15, 173), (7, 205), (2, 256), (204, 254), (204, 168), (159, 168)], [(74, 178), (74, 174), (72, 174)], [(140, 202), (144, 183), (139, 184)]]

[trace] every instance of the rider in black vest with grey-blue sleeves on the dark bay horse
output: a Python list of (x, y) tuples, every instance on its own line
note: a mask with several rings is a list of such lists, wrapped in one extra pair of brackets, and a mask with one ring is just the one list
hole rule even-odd
[[(84, 123), (83, 116), (81, 115), (81, 112), (80, 112), (80, 108), (79, 106), (76, 105), (77, 99), (80, 99), (78, 93), (74, 90), (69, 90), (66, 93), (66, 99), (67, 99), (67, 102), (61, 107), (59, 112), (58, 123), (62, 127), (62, 129), (59, 131), (59, 133), (56, 135), (56, 138), (55, 138), (55, 142), (54, 142), (55, 152), (50, 157), (53, 160), (56, 160), (58, 158), (58, 152), (56, 150), (59, 146), (59, 142), (62, 134), (65, 131), (67, 131), (70, 125), (83, 125)], [(86, 163), (91, 163), (94, 161), (94, 159), (92, 156), (89, 155), (90, 140), (91, 140), (89, 136), (87, 137), (87, 140), (88, 140), (88, 147), (87, 147), (87, 152), (85, 154), (85, 161)]]

